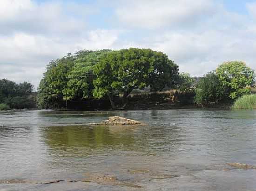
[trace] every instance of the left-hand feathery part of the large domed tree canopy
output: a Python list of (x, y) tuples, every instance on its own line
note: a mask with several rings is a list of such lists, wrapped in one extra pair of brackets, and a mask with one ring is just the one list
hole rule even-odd
[(93, 69), (101, 56), (110, 50), (78, 51), (53, 60), (47, 65), (38, 87), (39, 108), (60, 108), (63, 101), (91, 96)]

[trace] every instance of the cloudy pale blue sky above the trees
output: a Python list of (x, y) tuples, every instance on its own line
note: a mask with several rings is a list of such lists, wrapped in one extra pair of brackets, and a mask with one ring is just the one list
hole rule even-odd
[(191, 76), (232, 60), (256, 70), (256, 0), (0, 0), (0, 79), (36, 89), (68, 52), (129, 47)]

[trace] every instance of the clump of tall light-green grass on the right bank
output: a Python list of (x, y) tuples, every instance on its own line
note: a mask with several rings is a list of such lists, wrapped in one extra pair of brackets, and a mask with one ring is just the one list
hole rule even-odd
[(236, 100), (233, 109), (256, 109), (256, 94), (244, 95)]

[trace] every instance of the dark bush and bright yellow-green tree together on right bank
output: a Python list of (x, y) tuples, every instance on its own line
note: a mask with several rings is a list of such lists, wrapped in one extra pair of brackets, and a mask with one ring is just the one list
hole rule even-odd
[(221, 64), (215, 71), (206, 74), (197, 84), (195, 102), (210, 104), (236, 98), (251, 92), (254, 70), (239, 61)]

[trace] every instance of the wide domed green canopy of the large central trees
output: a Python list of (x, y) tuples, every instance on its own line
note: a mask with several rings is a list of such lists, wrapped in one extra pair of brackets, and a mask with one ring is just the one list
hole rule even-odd
[(125, 99), (133, 89), (172, 87), (177, 78), (178, 66), (162, 52), (137, 48), (78, 51), (47, 65), (38, 104), (54, 108), (65, 100), (106, 96), (111, 102), (119, 94)]

